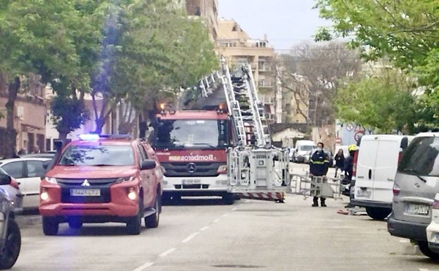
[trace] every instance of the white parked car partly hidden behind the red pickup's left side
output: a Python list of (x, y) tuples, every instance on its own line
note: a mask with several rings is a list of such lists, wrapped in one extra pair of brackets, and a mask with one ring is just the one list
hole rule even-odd
[(10, 158), (0, 160), (0, 168), (11, 175), (23, 194), (23, 209), (39, 206), (39, 182), (46, 171), (44, 161), (50, 158)]

